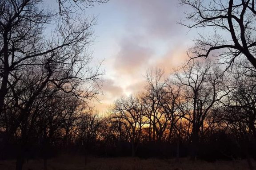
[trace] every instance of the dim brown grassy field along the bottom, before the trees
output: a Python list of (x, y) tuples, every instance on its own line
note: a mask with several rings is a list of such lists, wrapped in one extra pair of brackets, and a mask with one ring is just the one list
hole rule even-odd
[[(0, 170), (14, 170), (15, 161), (0, 161)], [(43, 161), (29, 160), (24, 170), (43, 170)], [(48, 170), (248, 170), (245, 160), (241, 161), (190, 161), (180, 159), (140, 158), (92, 158), (62, 155), (48, 161)]]

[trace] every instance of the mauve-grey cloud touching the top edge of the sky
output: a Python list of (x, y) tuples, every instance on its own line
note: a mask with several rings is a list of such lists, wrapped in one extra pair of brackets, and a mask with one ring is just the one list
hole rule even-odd
[(118, 8), (127, 13), (128, 31), (141, 31), (151, 38), (169, 39), (181, 35), (183, 17), (178, 0), (118, 0)]

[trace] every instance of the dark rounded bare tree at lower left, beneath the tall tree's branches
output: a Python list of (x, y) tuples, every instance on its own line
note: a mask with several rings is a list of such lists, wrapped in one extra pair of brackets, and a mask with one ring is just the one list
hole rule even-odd
[(30, 113), (33, 119), (29, 122), (30, 129), (36, 129), (37, 132), (32, 131), (28, 134), (36, 135), (29, 144), (38, 145), (41, 150), (40, 155), (44, 159), (44, 170), (47, 170), (47, 160), (54, 154), (53, 148), (67, 149), (75, 139), (73, 133), (85, 117), (83, 111), (86, 106), (83, 101), (63, 92), (54, 94), (54, 97), (38, 100), (36, 103), (39, 105), (38, 111)]

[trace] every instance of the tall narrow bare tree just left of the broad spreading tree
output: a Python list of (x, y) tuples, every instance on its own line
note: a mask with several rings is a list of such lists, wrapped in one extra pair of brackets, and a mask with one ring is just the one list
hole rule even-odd
[[(180, 97), (180, 88), (173, 84), (172, 80), (164, 79), (164, 70), (162, 69), (148, 70), (145, 77), (147, 80), (147, 91), (144, 94), (144, 100), (147, 99), (149, 102), (144, 103), (153, 104), (147, 110), (154, 112), (153, 121), (150, 120), (150, 125), (152, 122), (153, 128), (157, 132), (158, 141), (164, 137), (164, 133), (168, 129), (167, 140), (170, 143), (175, 124), (180, 117), (176, 115), (178, 109), (176, 104), (178, 104), (177, 100)], [(151, 116), (152, 114), (149, 114), (150, 119)]]

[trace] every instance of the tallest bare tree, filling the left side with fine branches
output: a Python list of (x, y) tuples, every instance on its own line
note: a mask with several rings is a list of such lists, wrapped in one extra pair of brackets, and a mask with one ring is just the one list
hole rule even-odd
[[(30, 119), (40, 114), (38, 101), (63, 92), (88, 103), (101, 87), (100, 68), (89, 66), (92, 58), (87, 51), (95, 20), (63, 19), (41, 3), (42, 0), (0, 2), (0, 119), (3, 114), (15, 116), (12, 126), (6, 122), (4, 131), (7, 141), (19, 131), (17, 170), (22, 169), (24, 148), (32, 137), (28, 133)], [(56, 27), (49, 35), (53, 21)], [(10, 110), (16, 112), (7, 112)]]

